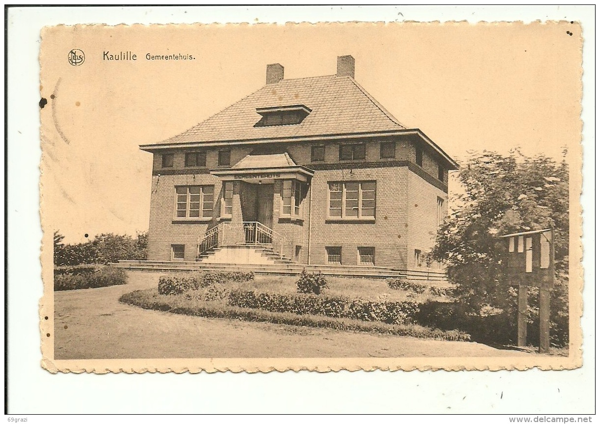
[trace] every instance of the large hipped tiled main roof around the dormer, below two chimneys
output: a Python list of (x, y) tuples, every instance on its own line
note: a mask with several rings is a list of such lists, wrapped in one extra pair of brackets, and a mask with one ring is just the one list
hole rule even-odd
[[(302, 104), (312, 111), (296, 125), (254, 127), (260, 107)], [(165, 140), (167, 143), (220, 142), (279, 137), (352, 134), (406, 129), (352, 77), (310, 77), (281, 80)]]

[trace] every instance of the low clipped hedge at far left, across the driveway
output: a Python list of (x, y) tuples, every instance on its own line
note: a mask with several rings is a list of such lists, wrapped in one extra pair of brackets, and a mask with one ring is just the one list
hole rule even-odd
[(120, 285), (127, 282), (127, 274), (122, 269), (111, 267), (98, 267), (85, 272), (56, 273), (54, 276), (54, 290), (76, 290), (77, 288), (97, 288), (109, 285)]

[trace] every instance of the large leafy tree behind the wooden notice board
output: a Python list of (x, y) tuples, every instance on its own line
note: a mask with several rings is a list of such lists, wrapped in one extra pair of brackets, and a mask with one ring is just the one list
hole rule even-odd
[[(452, 203), (457, 206), (439, 228), (431, 257), (445, 262), (448, 278), (457, 285), (457, 300), (467, 314), (504, 313), (508, 317), (516, 313), (516, 292), (509, 285), (514, 282), (506, 281), (506, 243), (497, 236), (554, 225), (557, 284), (552, 293), (551, 329), (555, 340), (567, 332), (569, 175), (565, 154), (557, 163), (544, 155), (527, 157), (518, 150), (506, 156), (484, 151), (461, 164), (458, 179), (464, 193), (455, 194)], [(530, 296), (530, 303), (533, 314), (535, 297)]]

